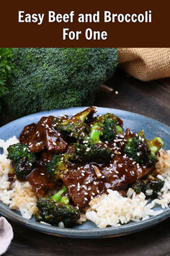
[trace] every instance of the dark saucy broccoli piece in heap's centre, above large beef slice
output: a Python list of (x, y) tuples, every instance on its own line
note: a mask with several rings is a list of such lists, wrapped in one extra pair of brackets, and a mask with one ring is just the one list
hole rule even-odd
[(70, 160), (75, 162), (97, 162), (104, 163), (112, 159), (112, 150), (103, 143), (94, 144), (91, 141), (73, 144), (73, 153)]

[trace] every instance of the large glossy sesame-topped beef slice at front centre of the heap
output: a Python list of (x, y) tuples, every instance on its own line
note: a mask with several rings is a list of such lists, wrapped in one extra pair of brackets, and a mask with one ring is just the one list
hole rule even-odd
[(73, 203), (80, 209), (88, 206), (95, 196), (107, 193), (107, 189), (126, 189), (128, 184), (150, 171), (147, 166), (139, 166), (125, 155), (115, 155), (112, 161), (104, 165), (93, 165), (99, 168), (102, 174), (100, 178), (91, 164), (86, 164), (76, 168), (63, 179)]

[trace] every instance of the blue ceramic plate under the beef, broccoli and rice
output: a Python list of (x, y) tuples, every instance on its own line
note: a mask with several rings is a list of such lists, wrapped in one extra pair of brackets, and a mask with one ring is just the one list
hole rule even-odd
[[(4, 127), (0, 128), (0, 139), (7, 140), (10, 137), (16, 135), (19, 137), (19, 133), (22, 132), (22, 129), (25, 125), (32, 122), (37, 122), (42, 116), (59, 116), (61, 114), (76, 114), (79, 111), (84, 110), (85, 108), (68, 108), (63, 110), (53, 110), (45, 111), (37, 114), (32, 114), (30, 116), (24, 116), (21, 119), (12, 121), (9, 124), (6, 124)], [(148, 140), (151, 140), (153, 137), (160, 136), (164, 142), (164, 149), (170, 149), (170, 127), (162, 124), (159, 121), (150, 119), (146, 116), (141, 116), (139, 114), (134, 114), (128, 111), (122, 111), (112, 108), (98, 108), (97, 114), (106, 114), (107, 112), (114, 113), (124, 122), (124, 128), (130, 128), (133, 132), (140, 132), (140, 129), (145, 130), (145, 135)], [(1, 150), (1, 149), (0, 149)], [(2, 153), (2, 151), (0, 151)], [(161, 210), (160, 207), (154, 208), (155, 210)], [(166, 208), (163, 213), (152, 216), (146, 221), (133, 222), (131, 221), (128, 224), (109, 227), (106, 229), (98, 229), (97, 226), (91, 221), (86, 221), (82, 225), (75, 226), (72, 229), (61, 229), (55, 226), (49, 226), (46, 224), (35, 222), (35, 218), (27, 220), (23, 218), (18, 211), (10, 210), (6, 205), (0, 202), (0, 212), (2, 215), (7, 218), (15, 221), (17, 223), (22, 223), (25, 227), (40, 231), (46, 234), (52, 234), (55, 236), (67, 236), (71, 238), (99, 238), (99, 237), (110, 237), (110, 236), (122, 236), (125, 234), (131, 234), (143, 229), (148, 229), (151, 226), (164, 221), (170, 216), (170, 208)]]

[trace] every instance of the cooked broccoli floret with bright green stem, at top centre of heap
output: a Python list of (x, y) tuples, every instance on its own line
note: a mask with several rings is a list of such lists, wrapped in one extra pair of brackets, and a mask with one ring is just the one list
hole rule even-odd
[(120, 125), (117, 125), (117, 117), (114, 114), (107, 113), (97, 117), (94, 124), (91, 125), (90, 140), (100, 142), (100, 140), (114, 140), (115, 135), (122, 134), (123, 130)]

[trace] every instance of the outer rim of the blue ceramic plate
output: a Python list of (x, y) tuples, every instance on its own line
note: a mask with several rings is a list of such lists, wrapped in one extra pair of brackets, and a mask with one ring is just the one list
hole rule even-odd
[[(19, 119), (16, 119), (14, 121), (9, 122), (8, 124), (5, 124), (4, 126), (0, 127), (0, 132), (3, 129), (6, 129), (6, 127), (10, 127), (11, 125), (17, 124), (17, 122), (22, 121), (24, 119), (32, 119), (32, 116), (43, 116), (43, 115), (49, 115), (54, 112), (59, 112), (59, 114), (62, 113), (62, 111), (83, 111), (87, 107), (73, 107), (73, 108), (63, 108), (63, 109), (53, 109), (50, 111), (41, 111), (37, 112), (35, 114), (30, 114), (27, 116), (23, 116)], [(170, 127), (161, 121), (157, 121), (156, 119), (152, 119), (148, 116), (143, 116), (141, 114), (137, 114), (131, 111), (125, 111), (119, 108), (103, 108), (103, 107), (97, 107), (97, 112), (100, 111), (115, 111), (115, 112), (122, 112), (122, 114), (127, 114), (127, 116), (141, 116), (145, 119), (150, 119), (151, 121), (156, 121), (157, 124), (160, 124), (160, 126), (164, 126), (167, 129), (170, 129)], [(61, 112), (61, 113), (60, 113)], [(72, 113), (71, 113), (72, 114)], [(124, 120), (123, 120), (124, 121)], [(1, 138), (0, 138), (1, 139)], [(32, 221), (32, 219), (27, 220), (26, 218), (22, 217), (18, 213), (16, 213), (14, 210), (9, 209), (8, 205), (4, 205), (3, 202), (0, 201), (0, 212), (3, 216), (6, 218), (9, 218), (10, 220), (20, 223), (23, 226), (26, 226), (29, 229), (33, 229), (35, 231), (40, 231), (45, 234), (52, 234), (55, 236), (64, 236), (64, 237), (70, 237), (70, 238), (79, 238), (79, 239), (90, 239), (90, 238), (100, 238), (100, 237), (112, 237), (112, 236), (122, 236), (126, 234), (132, 234), (138, 231), (142, 231), (144, 229), (148, 229), (151, 226), (155, 226), (158, 223), (161, 223), (161, 221), (164, 221), (166, 218), (169, 218), (170, 216), (170, 207), (166, 208), (163, 213), (160, 213), (156, 216), (151, 216), (148, 219), (144, 221), (139, 222), (133, 222), (130, 224), (123, 224), (121, 226), (113, 226), (113, 227), (107, 227), (104, 229), (99, 228), (93, 228), (93, 229), (68, 229), (68, 228), (58, 228), (57, 226), (50, 226), (48, 224), (38, 223), (36, 221)]]

